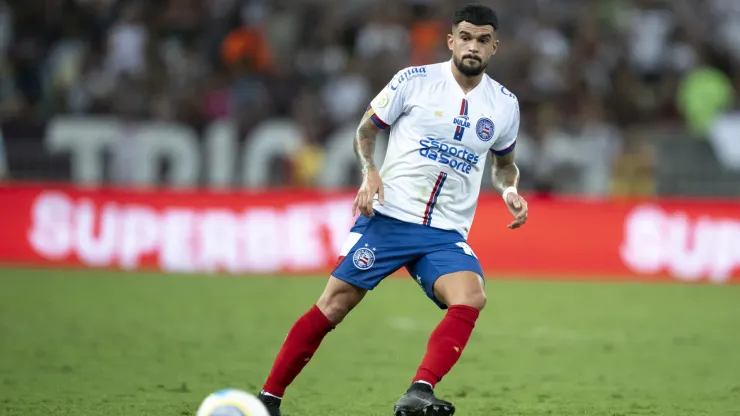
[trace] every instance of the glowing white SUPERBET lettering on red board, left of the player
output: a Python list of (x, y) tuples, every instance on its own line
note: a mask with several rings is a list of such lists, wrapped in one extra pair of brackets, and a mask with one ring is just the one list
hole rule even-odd
[(349, 231), (351, 200), (285, 208), (155, 208), (42, 192), (28, 240), (49, 260), (181, 273), (315, 271)]

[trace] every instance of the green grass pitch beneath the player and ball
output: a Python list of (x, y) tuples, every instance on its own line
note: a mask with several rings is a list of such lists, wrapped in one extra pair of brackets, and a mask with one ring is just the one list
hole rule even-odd
[[(193, 415), (256, 392), (323, 278), (0, 269), (0, 415)], [(740, 415), (740, 287), (489, 281), (437, 387), (460, 416)], [(389, 416), (443, 312), (380, 285), (288, 390), (288, 416)]]

